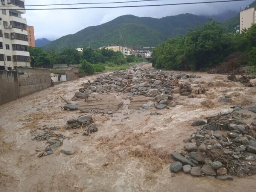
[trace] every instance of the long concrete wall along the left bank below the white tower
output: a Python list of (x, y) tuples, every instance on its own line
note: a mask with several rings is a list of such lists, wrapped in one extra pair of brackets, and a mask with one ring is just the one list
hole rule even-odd
[(17, 67), (0, 71), (0, 105), (51, 86), (50, 70)]

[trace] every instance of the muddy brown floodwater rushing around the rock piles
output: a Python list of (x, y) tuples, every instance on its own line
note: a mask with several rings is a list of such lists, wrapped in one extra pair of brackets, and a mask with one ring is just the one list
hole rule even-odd
[[(229, 82), (226, 75), (196, 74), (201, 78), (192, 81), (201, 82), (207, 93), (196, 98), (174, 93), (178, 105), (170, 109), (136, 110), (128, 96), (111, 93), (123, 105), (113, 116), (93, 114), (99, 131), (90, 136), (83, 136), (80, 128), (63, 128), (67, 120), (81, 114), (64, 111), (60, 96), (71, 101), (86, 79), (99, 75), (64, 82), (1, 105), (0, 191), (255, 191), (256, 176), (220, 181), (169, 172), (171, 152), (182, 149), (183, 139), (197, 130), (190, 126), (194, 120), (230, 110), (233, 105), (256, 103), (255, 88)], [(233, 102), (220, 103), (225, 95)], [(162, 115), (149, 115), (154, 111)], [(58, 126), (56, 133), (66, 139), (52, 155), (39, 158), (36, 149), (47, 144), (32, 140), (30, 132), (52, 126)], [(75, 154), (62, 154), (66, 147)]]

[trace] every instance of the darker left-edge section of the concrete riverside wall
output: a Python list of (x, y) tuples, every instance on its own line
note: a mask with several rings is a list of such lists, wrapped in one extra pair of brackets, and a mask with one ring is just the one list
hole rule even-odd
[(19, 96), (17, 72), (0, 71), (0, 105)]

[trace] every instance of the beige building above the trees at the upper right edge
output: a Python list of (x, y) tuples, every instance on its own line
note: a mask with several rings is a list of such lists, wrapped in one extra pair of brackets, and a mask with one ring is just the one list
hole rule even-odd
[(240, 12), (240, 33), (256, 23), (256, 12), (254, 8), (244, 9)]

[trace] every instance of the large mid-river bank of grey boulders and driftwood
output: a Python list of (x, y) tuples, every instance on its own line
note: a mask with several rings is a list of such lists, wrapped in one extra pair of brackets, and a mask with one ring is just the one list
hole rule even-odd
[[(184, 96), (205, 92), (204, 87), (200, 84), (192, 85), (190, 81), (186, 81), (183, 84), (178, 82), (178, 79), (189, 80), (189, 78), (196, 77), (198, 76), (177, 74), (154, 68), (117, 71), (108, 75), (102, 75), (93, 82), (85, 83), (84, 87), (79, 89), (80, 93), (76, 93), (76, 97), (79, 95), (79, 98), (86, 98), (88, 94), (92, 93), (119, 91), (126, 93), (128, 96), (143, 95), (154, 97), (157, 102), (155, 106), (158, 109), (163, 109), (168, 105), (175, 107), (176, 104), (171, 102), (173, 99), (172, 89), (175, 87), (178, 87), (180, 94)], [(148, 107), (150, 106), (145, 106), (145, 108)]]

